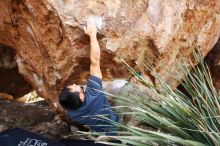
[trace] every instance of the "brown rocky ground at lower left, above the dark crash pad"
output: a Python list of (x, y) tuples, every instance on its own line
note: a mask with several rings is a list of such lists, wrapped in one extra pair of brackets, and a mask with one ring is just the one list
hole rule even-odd
[(50, 139), (78, 139), (74, 126), (63, 122), (45, 101), (19, 103), (0, 99), (0, 132), (23, 128)]

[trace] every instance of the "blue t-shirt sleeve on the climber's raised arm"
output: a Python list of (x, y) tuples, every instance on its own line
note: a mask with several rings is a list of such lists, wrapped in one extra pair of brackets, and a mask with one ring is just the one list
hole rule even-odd
[(87, 83), (87, 87), (86, 87), (86, 92), (90, 95), (97, 95), (100, 94), (103, 91), (103, 87), (102, 87), (102, 79), (90, 75), (89, 79), (88, 79), (88, 83)]

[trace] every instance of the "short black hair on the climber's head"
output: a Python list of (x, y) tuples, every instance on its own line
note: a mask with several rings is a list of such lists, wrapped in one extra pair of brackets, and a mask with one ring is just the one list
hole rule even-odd
[(70, 92), (67, 87), (61, 91), (59, 102), (67, 110), (76, 110), (82, 105), (79, 92)]

